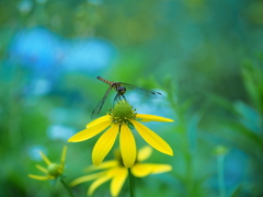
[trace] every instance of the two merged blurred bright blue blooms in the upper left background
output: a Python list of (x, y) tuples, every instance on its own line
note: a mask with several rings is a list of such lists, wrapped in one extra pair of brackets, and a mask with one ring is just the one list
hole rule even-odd
[(61, 70), (96, 74), (111, 65), (112, 44), (100, 38), (62, 39), (44, 27), (19, 32), (10, 48), (12, 60), (48, 79)]

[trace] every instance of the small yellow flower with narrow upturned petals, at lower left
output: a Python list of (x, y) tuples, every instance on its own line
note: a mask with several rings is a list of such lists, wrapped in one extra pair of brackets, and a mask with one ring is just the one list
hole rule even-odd
[(61, 155), (61, 159), (60, 159), (61, 163), (57, 164), (57, 163), (52, 163), (48, 160), (48, 158), (42, 151), (39, 151), (39, 154), (41, 154), (42, 159), (47, 164), (47, 169), (45, 169), (45, 167), (43, 167), (41, 165), (36, 165), (36, 167), (39, 171), (44, 172), (46, 175), (45, 176), (38, 176), (38, 175), (28, 174), (28, 176), (31, 178), (39, 179), (39, 181), (57, 178), (58, 176), (60, 176), (64, 173), (66, 152), (67, 152), (67, 147), (65, 146), (64, 150), (62, 150), (62, 155)]

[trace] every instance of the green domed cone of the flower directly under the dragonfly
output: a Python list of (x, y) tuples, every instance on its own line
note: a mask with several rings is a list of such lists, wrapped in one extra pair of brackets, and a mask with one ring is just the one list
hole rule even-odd
[(129, 103), (125, 100), (117, 102), (111, 112), (113, 123), (126, 123), (127, 125), (130, 119), (135, 118), (135, 109), (133, 109)]

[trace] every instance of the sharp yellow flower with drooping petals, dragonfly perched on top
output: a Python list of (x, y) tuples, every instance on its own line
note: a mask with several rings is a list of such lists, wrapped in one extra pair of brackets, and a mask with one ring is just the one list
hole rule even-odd
[(92, 151), (92, 162), (95, 166), (104, 160), (112, 149), (116, 137), (119, 132), (119, 147), (123, 162), (126, 167), (132, 167), (136, 159), (136, 143), (130, 127), (139, 132), (144, 140), (158, 151), (173, 155), (171, 147), (152, 130), (140, 124), (139, 121), (173, 121), (172, 119), (147, 115), (136, 114), (127, 101), (119, 101), (110, 114), (102, 116), (90, 124), (87, 128), (75, 136), (69, 142), (79, 142), (88, 140), (104, 129), (108, 128), (96, 141)]

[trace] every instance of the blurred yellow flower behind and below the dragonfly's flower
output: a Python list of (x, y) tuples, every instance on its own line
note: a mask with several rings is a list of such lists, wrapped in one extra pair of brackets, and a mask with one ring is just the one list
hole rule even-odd
[[(172, 166), (169, 164), (140, 163), (150, 157), (151, 150), (152, 149), (147, 146), (138, 151), (136, 163), (130, 167), (132, 174), (134, 176), (145, 177), (150, 174), (160, 174), (172, 170)], [(91, 165), (87, 167), (87, 172), (94, 172), (99, 170), (103, 171), (79, 177), (72, 181), (70, 183), (70, 186), (73, 187), (81, 183), (94, 179), (88, 189), (88, 195), (92, 195), (100, 185), (111, 179), (111, 195), (118, 196), (128, 176), (128, 169), (124, 166), (121, 154), (117, 154), (116, 160), (102, 162), (100, 166)]]

